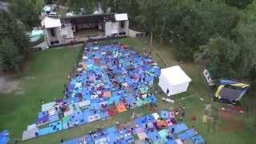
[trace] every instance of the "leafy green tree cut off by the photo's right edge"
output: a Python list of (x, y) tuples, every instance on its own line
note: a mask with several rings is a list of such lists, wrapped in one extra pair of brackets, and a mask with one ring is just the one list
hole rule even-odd
[(252, 82), (256, 80), (256, 2), (244, 10), (242, 21), (234, 30), (234, 40), (242, 47), (242, 71), (240, 74), (244, 78), (250, 78)]

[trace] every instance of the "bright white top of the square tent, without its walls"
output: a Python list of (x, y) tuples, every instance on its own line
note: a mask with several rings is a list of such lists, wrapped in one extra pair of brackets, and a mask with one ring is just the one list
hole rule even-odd
[(162, 69), (160, 77), (165, 78), (173, 86), (183, 82), (191, 82), (191, 78), (186, 75), (180, 66), (171, 66)]

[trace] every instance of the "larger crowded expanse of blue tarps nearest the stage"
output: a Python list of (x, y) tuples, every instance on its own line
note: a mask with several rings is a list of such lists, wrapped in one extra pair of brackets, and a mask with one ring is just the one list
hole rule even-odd
[[(85, 48), (83, 59), (80, 62), (79, 71), (74, 78), (70, 79), (70, 84), (66, 88), (66, 98), (62, 102), (69, 105), (73, 111), (69, 119), (59, 119), (61, 109), (55, 110), (54, 116), (48, 117), (40, 112), (38, 119), (43, 122), (62, 122), (62, 127), (58, 130), (68, 129), (74, 125), (82, 125), (98, 118), (88, 117), (97, 115), (99, 118), (109, 117), (108, 109), (114, 103), (123, 102), (126, 108), (134, 106), (142, 106), (146, 103), (155, 103), (157, 98), (150, 95), (150, 87), (153, 85), (154, 78), (160, 76), (160, 67), (153, 64), (153, 60), (139, 55), (138, 52), (122, 49), (122, 46), (93, 46), (87, 45)], [(128, 87), (126, 87), (128, 84)], [(110, 92), (109, 96), (104, 95)], [(141, 95), (144, 94), (144, 98)], [(145, 97), (145, 94), (147, 97)], [(87, 101), (90, 103), (85, 108), (78, 106), (78, 102)], [(106, 105), (102, 105), (106, 102)], [(103, 108), (104, 107), (104, 108)], [(104, 109), (104, 110), (103, 110)], [(146, 120), (152, 122), (153, 118)], [(38, 122), (39, 123), (39, 122)], [(42, 122), (40, 121), (42, 124)], [(38, 134), (50, 134), (57, 130), (47, 126), (39, 129)]]

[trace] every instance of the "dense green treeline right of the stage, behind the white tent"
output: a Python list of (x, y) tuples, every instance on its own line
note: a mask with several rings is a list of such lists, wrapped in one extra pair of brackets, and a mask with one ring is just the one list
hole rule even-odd
[(171, 42), (178, 58), (206, 64), (214, 78), (255, 80), (255, 2), (244, 10), (219, 0), (137, 2), (138, 26), (160, 43)]

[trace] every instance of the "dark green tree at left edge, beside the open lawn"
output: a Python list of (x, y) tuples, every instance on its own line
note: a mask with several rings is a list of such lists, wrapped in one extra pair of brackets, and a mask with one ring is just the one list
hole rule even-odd
[[(18, 70), (30, 57), (30, 42), (25, 30), (9, 13), (0, 10), (0, 61), (6, 71)], [(13, 59), (12, 59), (13, 58)]]

